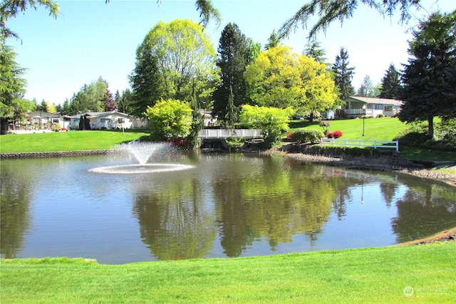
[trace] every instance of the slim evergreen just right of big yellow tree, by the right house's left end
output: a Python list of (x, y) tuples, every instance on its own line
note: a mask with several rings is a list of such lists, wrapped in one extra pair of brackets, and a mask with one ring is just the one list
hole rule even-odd
[(341, 48), (341, 52), (336, 56), (336, 62), (333, 64), (334, 83), (339, 88), (341, 100), (355, 95), (355, 88), (351, 85), (355, 68), (348, 67), (349, 64), (348, 51)]

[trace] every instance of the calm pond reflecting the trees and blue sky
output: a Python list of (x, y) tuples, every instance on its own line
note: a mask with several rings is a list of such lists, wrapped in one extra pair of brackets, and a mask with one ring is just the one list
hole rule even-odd
[[(159, 152), (1, 160), (2, 258), (99, 263), (388, 246), (456, 226), (456, 192), (395, 172), (261, 154)], [(161, 168), (161, 167), (158, 168)]]

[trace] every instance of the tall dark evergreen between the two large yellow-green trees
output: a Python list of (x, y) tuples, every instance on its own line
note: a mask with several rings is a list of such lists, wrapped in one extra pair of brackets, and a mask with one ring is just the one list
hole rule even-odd
[[(219, 39), (217, 66), (221, 71), (222, 83), (214, 92), (214, 115), (219, 120), (232, 120), (239, 107), (247, 103), (244, 71), (252, 54), (252, 43), (235, 23), (228, 23)], [(229, 98), (232, 97), (232, 103)], [(228, 117), (229, 116), (229, 117)]]

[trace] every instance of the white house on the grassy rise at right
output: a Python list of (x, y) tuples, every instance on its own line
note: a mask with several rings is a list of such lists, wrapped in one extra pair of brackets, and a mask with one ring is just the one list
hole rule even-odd
[[(363, 114), (367, 117), (379, 115), (393, 117), (400, 112), (400, 107), (403, 105), (402, 100), (359, 96), (350, 96), (343, 101), (346, 105), (336, 111), (336, 117), (353, 118), (362, 117)], [(366, 108), (363, 109), (363, 106)]]

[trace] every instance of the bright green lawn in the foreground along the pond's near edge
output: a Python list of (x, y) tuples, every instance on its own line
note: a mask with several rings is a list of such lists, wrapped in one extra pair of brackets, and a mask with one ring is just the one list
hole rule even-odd
[(1, 303), (454, 303), (455, 253), (435, 243), (120, 266), (3, 260)]

